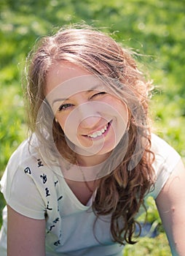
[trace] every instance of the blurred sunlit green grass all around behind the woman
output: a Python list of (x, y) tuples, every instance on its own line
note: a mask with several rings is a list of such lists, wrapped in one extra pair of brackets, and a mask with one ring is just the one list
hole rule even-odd
[[(151, 116), (155, 132), (185, 158), (184, 0), (1, 0), (0, 1), (0, 177), (26, 136), (21, 88), (25, 56), (36, 39), (62, 25), (85, 23), (144, 56), (141, 66), (154, 80)], [(0, 212), (4, 200), (0, 197)], [(1, 216), (0, 216), (1, 219)], [(149, 221), (160, 236), (126, 246), (125, 255), (170, 255), (154, 202)], [(0, 221), (1, 226), (1, 221)]]

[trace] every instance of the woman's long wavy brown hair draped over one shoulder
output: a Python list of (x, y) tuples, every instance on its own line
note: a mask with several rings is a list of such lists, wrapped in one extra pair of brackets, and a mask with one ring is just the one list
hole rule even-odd
[[(130, 116), (127, 150), (115, 170), (101, 178), (92, 208), (97, 216), (111, 214), (111, 235), (120, 244), (125, 241), (134, 243), (133, 235), (137, 224), (135, 216), (143, 205), (144, 196), (154, 185), (154, 170), (151, 166), (154, 154), (150, 150), (148, 118), (148, 92), (151, 83), (146, 82), (132, 55), (130, 50), (122, 48), (109, 35), (89, 26), (60, 29), (53, 36), (39, 40), (36, 50), (29, 56), (26, 86), (28, 127), (31, 132), (36, 133), (46, 155), (53, 155), (54, 140), (56, 147), (60, 147), (60, 153), (74, 162), (75, 153), (68, 147), (63, 130), (55, 122), (47, 102), (44, 102), (47, 73), (53, 64), (68, 61), (92, 75), (117, 81), (112, 86), (114, 93), (127, 103)], [(125, 90), (128, 93), (125, 94)], [(48, 111), (44, 111), (42, 120), (38, 121), (43, 102)], [(52, 116), (53, 140), (50, 140), (50, 132), (47, 139), (41, 132), (41, 127), (44, 127), (44, 131), (50, 130), (48, 116)], [(117, 157), (122, 154), (124, 141), (123, 136), (111, 162), (117, 162)]]

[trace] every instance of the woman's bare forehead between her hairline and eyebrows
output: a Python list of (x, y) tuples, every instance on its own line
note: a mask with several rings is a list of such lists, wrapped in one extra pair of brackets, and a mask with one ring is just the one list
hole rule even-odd
[(46, 97), (49, 102), (56, 98), (68, 99), (82, 91), (105, 89), (103, 80), (74, 64), (60, 63), (47, 75)]

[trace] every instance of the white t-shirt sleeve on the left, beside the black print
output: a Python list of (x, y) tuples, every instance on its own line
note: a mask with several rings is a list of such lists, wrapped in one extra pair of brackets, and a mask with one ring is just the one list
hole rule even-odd
[(0, 183), (7, 205), (25, 217), (44, 219), (46, 207), (34, 178), (15, 162), (16, 155), (10, 159)]

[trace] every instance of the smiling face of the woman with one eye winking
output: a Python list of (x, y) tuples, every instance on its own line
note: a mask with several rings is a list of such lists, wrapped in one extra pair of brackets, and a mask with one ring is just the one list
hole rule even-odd
[(47, 75), (46, 97), (77, 154), (108, 154), (127, 128), (127, 106), (97, 76), (68, 62)]

